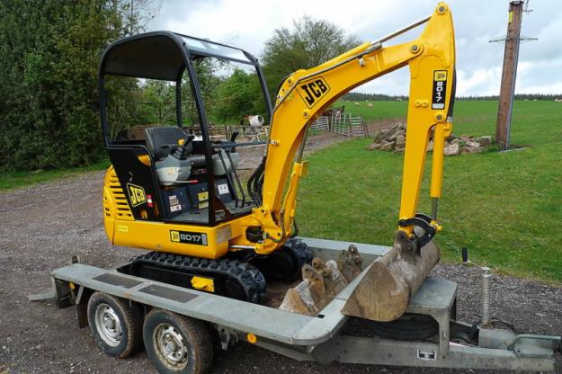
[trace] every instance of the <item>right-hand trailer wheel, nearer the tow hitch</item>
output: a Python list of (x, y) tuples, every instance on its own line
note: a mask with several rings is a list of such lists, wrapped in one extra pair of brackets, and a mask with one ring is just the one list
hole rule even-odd
[(145, 319), (143, 338), (148, 358), (160, 373), (201, 374), (210, 368), (213, 347), (201, 321), (153, 309)]

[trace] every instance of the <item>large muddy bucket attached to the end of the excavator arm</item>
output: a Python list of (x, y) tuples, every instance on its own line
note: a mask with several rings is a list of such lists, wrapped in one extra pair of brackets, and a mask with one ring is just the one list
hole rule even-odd
[(342, 313), (373, 321), (394, 321), (402, 316), (410, 298), (439, 262), (433, 241), (417, 249), (404, 231), (394, 246), (361, 274), (361, 280), (343, 306)]

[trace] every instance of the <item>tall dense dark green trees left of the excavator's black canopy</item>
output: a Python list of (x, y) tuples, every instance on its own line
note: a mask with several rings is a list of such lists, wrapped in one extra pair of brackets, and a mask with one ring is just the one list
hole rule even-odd
[(109, 43), (138, 30), (129, 22), (142, 17), (131, 17), (130, 4), (137, 3), (0, 2), (0, 171), (103, 157), (97, 67)]

